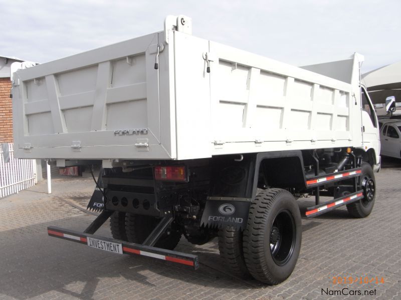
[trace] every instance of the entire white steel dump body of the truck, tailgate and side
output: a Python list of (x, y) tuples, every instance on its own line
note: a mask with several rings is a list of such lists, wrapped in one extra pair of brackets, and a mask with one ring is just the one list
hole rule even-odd
[(14, 73), (18, 156), (193, 159), (363, 146), (357, 56), (328, 77), (176, 29)]

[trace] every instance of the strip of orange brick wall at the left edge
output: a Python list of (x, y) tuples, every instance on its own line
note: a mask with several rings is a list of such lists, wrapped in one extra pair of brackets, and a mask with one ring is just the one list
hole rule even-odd
[(0, 143), (13, 142), (13, 105), (10, 78), (0, 78)]

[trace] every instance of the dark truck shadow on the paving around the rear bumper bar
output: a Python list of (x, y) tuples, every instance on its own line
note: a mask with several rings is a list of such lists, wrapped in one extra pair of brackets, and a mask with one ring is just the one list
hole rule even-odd
[[(82, 216), (64, 219), (63, 226), (70, 223), (75, 224), (72, 227), (85, 227), (79, 218)], [(21, 228), (0, 232), (0, 251), (12, 253), (0, 260), (0, 293), (17, 299), (29, 299), (36, 296), (53, 298), (58, 291), (66, 296), (92, 299), (101, 296), (98, 293), (105, 281), (123, 281), (116, 288), (132, 288), (135, 293), (138, 290), (148, 290), (150, 293), (155, 288), (171, 284), (182, 284), (183, 288), (197, 285), (234, 290), (246, 290), (252, 285), (263, 286), (256, 280), (246, 282), (218, 271), (224, 265), (219, 259), (217, 239), (207, 248), (201, 248), (189, 244), (182, 237), (177, 250), (199, 256), (201, 266), (193, 270), (143, 256), (115, 255), (48, 236), (47, 226), (57, 223), (60, 220), (24, 227), (24, 231), (35, 232), (29, 237), (19, 236)], [(99, 235), (107, 235), (104, 234), (107, 230), (104, 225)], [(15, 236), (19, 237), (13, 239)], [(5, 242), (7, 239), (10, 242)], [(161, 286), (159, 278), (163, 281)], [(115, 296), (118, 298), (118, 293)]]

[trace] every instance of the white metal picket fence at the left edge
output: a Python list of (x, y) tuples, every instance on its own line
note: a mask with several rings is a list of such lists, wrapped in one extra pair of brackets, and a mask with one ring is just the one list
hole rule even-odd
[(0, 147), (0, 198), (18, 193), (36, 183), (35, 159), (14, 158), (13, 143)]

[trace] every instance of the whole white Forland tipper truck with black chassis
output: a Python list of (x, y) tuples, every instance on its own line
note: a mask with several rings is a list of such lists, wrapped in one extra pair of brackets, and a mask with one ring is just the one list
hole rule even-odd
[[(173, 250), (181, 235), (218, 236), (233, 273), (277, 284), (300, 251), (297, 198), (315, 197), (305, 217), (372, 211), (380, 144), (363, 56), (296, 67), (191, 28), (167, 16), (160, 32), (13, 65), (16, 154), (101, 165), (88, 204), (99, 216), (51, 236), (194, 268)], [(95, 235), (109, 218), (113, 238)]]

